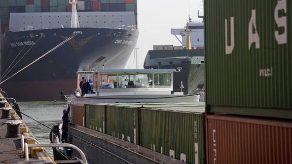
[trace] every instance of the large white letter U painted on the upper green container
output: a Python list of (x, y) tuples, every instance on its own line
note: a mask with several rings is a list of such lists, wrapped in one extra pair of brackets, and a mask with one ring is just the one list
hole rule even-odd
[(234, 49), (234, 17), (230, 17), (230, 46), (228, 46), (227, 19), (225, 19), (225, 54), (231, 54)]

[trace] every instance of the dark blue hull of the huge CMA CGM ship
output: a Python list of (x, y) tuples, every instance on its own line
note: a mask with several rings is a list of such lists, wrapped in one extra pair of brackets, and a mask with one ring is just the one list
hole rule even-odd
[(68, 42), (0, 85), (17, 100), (57, 100), (59, 92), (78, 88), (76, 72), (123, 69), (137, 41), (138, 30), (110, 28), (58, 28), (7, 31), (2, 40), (1, 81), (47, 53), (74, 32)]

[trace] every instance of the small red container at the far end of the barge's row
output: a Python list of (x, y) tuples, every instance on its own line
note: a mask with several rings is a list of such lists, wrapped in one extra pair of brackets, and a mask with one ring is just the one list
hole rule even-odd
[(85, 104), (73, 104), (71, 106), (71, 123), (86, 127), (86, 105)]

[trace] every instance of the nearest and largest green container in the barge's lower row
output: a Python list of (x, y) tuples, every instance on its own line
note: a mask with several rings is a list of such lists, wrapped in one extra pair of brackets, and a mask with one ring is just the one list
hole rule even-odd
[(205, 163), (204, 113), (140, 110), (141, 146), (187, 163)]

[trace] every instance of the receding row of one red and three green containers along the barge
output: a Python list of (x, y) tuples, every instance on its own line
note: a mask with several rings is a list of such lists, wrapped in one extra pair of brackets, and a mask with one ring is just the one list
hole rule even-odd
[[(71, 123), (187, 163), (205, 163), (205, 103), (73, 104)], [(84, 132), (84, 133), (86, 133)], [(72, 134), (72, 132), (71, 132)], [(106, 138), (104, 135), (104, 138)], [(86, 145), (72, 137), (72, 144)], [(88, 152), (90, 154), (90, 152)]]

